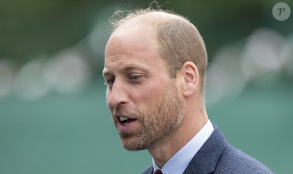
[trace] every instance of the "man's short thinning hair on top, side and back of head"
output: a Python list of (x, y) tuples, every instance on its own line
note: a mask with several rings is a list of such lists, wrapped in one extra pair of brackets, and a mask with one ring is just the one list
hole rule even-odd
[[(183, 16), (162, 10), (160, 6), (156, 9), (151, 6), (131, 11), (116, 9), (110, 17), (113, 32), (130, 20), (152, 24), (157, 31), (158, 52), (167, 63), (170, 77), (175, 78), (177, 71), (185, 62), (193, 62), (200, 73), (200, 96), (204, 96), (208, 58), (205, 43), (198, 29)], [(162, 18), (162, 15), (156, 12), (169, 15)]]

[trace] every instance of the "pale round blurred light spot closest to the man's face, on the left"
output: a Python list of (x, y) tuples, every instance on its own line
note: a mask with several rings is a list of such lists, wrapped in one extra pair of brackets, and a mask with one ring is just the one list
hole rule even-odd
[(76, 48), (61, 50), (44, 67), (46, 84), (61, 94), (82, 91), (92, 75), (86, 58)]

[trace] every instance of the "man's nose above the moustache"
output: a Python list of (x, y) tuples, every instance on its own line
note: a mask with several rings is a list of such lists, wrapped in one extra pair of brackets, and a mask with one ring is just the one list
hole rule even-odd
[(116, 108), (128, 102), (127, 85), (116, 78), (112, 88), (107, 90), (107, 104), (109, 107)]

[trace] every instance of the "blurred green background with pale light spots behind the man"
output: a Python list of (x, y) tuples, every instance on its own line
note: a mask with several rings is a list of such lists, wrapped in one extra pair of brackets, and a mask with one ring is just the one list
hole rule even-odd
[[(150, 3), (0, 2), (0, 173), (139, 173), (152, 164), (147, 151), (120, 146), (102, 77), (109, 17)], [(158, 3), (204, 37), (212, 123), (275, 173), (290, 173), (293, 17), (274, 19), (278, 1)]]

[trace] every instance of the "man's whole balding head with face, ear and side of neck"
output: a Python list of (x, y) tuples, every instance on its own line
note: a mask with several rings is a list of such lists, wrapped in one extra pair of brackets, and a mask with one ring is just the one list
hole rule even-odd
[(208, 119), (204, 42), (188, 20), (161, 10), (135, 11), (114, 28), (103, 76), (121, 144), (151, 154), (170, 145), (171, 157)]

